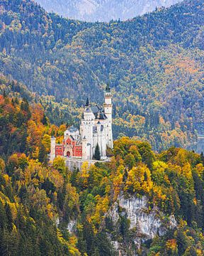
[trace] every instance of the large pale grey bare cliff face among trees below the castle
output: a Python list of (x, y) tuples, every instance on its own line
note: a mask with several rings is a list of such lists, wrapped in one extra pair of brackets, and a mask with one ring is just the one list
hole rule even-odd
[[(166, 216), (156, 206), (153, 209), (149, 209), (146, 196), (125, 198), (120, 195), (117, 203), (112, 206), (107, 214), (107, 217), (113, 221), (115, 228), (121, 215), (126, 215), (127, 219), (130, 220), (130, 230), (133, 231), (132, 238), (137, 248), (140, 248), (142, 242), (151, 240), (156, 235), (162, 236), (167, 230), (176, 228), (177, 225), (174, 215)], [(112, 242), (115, 249), (120, 252), (120, 255), (127, 255), (123, 250), (123, 243), (117, 240)]]

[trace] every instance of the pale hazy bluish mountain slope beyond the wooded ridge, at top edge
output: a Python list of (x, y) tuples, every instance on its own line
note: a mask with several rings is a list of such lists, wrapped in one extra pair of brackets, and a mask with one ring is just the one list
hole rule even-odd
[(179, 0), (37, 0), (46, 11), (80, 21), (127, 20), (154, 11), (156, 7), (169, 7)]

